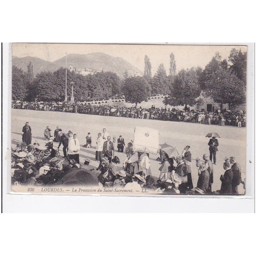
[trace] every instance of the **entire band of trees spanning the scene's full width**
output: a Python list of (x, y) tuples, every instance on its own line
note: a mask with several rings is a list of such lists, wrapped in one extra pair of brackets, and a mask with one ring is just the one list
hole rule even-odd
[[(67, 70), (67, 93), (71, 95), (70, 83), (74, 82), (74, 96), (77, 101), (86, 99), (101, 100), (123, 93), (127, 102), (139, 103), (151, 95), (168, 94), (164, 103), (172, 106), (200, 103), (197, 98), (203, 91), (215, 102), (238, 106), (245, 103), (246, 97), (246, 52), (232, 49), (228, 60), (221, 60), (216, 52), (205, 68), (196, 67), (176, 72), (174, 54), (170, 54), (169, 75), (163, 63), (160, 63), (154, 76), (147, 55), (144, 62), (143, 77), (129, 77), (124, 72), (120, 79), (113, 72), (100, 72), (93, 75), (79, 75)], [(33, 74), (33, 65), (28, 65), (27, 72), (12, 67), (12, 99), (34, 101), (64, 100), (65, 68), (54, 72)]]

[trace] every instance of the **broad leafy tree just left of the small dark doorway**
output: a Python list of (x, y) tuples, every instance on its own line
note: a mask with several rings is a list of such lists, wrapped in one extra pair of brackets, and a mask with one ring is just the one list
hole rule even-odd
[(164, 103), (171, 106), (193, 106), (197, 103), (200, 92), (195, 68), (181, 69), (175, 76), (172, 94), (164, 99)]

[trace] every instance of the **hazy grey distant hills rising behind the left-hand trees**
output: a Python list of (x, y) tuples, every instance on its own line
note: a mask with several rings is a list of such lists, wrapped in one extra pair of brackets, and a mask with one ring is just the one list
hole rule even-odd
[[(34, 68), (34, 74), (36, 75), (41, 71), (55, 71), (60, 67), (65, 67), (66, 56), (49, 62), (36, 57), (13, 57), (12, 65), (27, 70), (29, 61), (32, 62)], [(102, 52), (88, 53), (88, 54), (68, 54), (67, 55), (67, 67), (73, 68), (91, 68), (96, 70), (115, 72), (118, 76), (123, 78), (124, 72), (127, 70), (129, 76), (133, 76), (134, 73), (143, 73), (128, 61), (120, 57), (112, 57)]]

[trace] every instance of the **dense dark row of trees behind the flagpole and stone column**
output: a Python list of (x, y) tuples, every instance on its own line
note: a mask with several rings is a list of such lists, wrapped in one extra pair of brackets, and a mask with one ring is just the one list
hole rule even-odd
[[(12, 99), (34, 101), (62, 101), (65, 99), (66, 70), (44, 71), (32, 76), (30, 63), (28, 72), (12, 66)], [(87, 76), (67, 70), (67, 95), (71, 95), (74, 82), (74, 97), (77, 101), (106, 99), (120, 92), (121, 80), (113, 72), (99, 72)]]

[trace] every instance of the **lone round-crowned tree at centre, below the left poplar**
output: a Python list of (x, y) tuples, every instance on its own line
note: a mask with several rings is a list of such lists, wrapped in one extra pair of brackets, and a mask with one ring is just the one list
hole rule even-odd
[(127, 102), (137, 104), (147, 101), (150, 96), (148, 82), (144, 77), (128, 77), (124, 80), (123, 93)]

